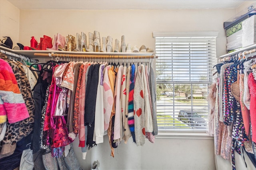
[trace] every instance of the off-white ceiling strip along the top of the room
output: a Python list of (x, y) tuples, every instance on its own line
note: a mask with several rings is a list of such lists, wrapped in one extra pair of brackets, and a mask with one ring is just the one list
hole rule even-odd
[(20, 10), (129, 10), (237, 8), (246, 0), (9, 0)]

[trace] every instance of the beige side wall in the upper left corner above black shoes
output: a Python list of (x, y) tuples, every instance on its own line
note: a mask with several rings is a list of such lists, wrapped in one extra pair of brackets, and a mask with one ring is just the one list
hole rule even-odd
[[(0, 0), (0, 39), (11, 37), (13, 47), (19, 42), (20, 10), (7, 0)], [(5, 41), (5, 40), (4, 40)]]

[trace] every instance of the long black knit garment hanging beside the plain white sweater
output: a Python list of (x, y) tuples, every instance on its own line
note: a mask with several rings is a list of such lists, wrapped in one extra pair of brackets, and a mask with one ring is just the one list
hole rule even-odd
[(99, 80), (99, 68), (100, 68), (100, 64), (91, 65), (88, 70), (88, 76), (87, 76), (85, 107), (84, 107), (84, 124), (88, 125), (88, 133), (87, 133), (87, 141), (86, 141), (86, 145), (88, 146), (88, 149), (95, 146), (95, 141), (93, 141), (93, 133), (94, 133), (96, 96), (97, 96), (97, 88), (98, 88), (98, 80)]

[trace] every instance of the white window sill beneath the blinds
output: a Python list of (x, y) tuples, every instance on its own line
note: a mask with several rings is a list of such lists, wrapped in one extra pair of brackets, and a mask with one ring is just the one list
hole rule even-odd
[(158, 129), (158, 135), (156, 138), (162, 139), (214, 139), (214, 137), (208, 135), (206, 131), (194, 130), (164, 130)]

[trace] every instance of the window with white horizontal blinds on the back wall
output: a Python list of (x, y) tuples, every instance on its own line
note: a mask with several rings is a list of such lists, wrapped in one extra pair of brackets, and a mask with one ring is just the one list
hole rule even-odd
[(206, 131), (216, 32), (154, 32), (158, 129)]

